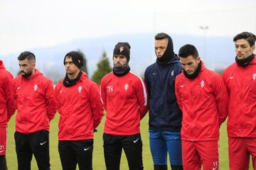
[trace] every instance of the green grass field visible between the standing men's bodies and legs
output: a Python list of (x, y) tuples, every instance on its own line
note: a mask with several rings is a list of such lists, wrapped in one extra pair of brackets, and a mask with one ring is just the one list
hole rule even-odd
[[(53, 121), (50, 123), (50, 168), (52, 170), (62, 169), (60, 164), (60, 158), (58, 154), (58, 119), (59, 115), (56, 114)], [(148, 117), (147, 115), (142, 120), (141, 123), (141, 133), (143, 141), (143, 163), (144, 169), (153, 169), (153, 162), (151, 159), (151, 153), (149, 149), (149, 132), (148, 132)], [(95, 132), (95, 144), (93, 151), (93, 169), (105, 169), (105, 160), (102, 147), (102, 132), (104, 127), (104, 120), (97, 128), (98, 132)], [(15, 152), (15, 142), (14, 142), (14, 131), (15, 131), (15, 118), (11, 118), (8, 125), (8, 140), (7, 140), (7, 164), (9, 170), (16, 170), (17, 168), (17, 158)], [(36, 166), (36, 161), (33, 158), (31, 163), (31, 169), (38, 169)], [(127, 160), (122, 154), (122, 160), (120, 169), (128, 169)], [(169, 166), (169, 169), (170, 166)], [(228, 169), (228, 137), (226, 132), (226, 124), (224, 123), (220, 128), (220, 169)], [(250, 166), (252, 169), (252, 166)]]

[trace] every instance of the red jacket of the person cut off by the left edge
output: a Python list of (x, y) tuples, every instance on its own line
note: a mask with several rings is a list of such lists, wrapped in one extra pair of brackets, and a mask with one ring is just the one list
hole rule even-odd
[(0, 127), (7, 127), (7, 122), (16, 110), (12, 75), (5, 69), (0, 60)]

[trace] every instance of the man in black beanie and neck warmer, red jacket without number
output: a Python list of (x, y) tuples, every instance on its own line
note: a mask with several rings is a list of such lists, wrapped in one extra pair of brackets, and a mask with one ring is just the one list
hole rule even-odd
[(80, 52), (68, 52), (64, 57), (65, 78), (55, 87), (60, 113), (58, 150), (63, 170), (92, 169), (93, 132), (100, 124), (104, 108), (100, 89), (81, 72)]

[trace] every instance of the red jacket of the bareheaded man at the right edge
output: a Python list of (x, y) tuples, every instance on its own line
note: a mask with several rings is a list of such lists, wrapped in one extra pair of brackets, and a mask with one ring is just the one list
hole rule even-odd
[(230, 96), (228, 137), (256, 137), (256, 55), (247, 67), (230, 65), (223, 80)]

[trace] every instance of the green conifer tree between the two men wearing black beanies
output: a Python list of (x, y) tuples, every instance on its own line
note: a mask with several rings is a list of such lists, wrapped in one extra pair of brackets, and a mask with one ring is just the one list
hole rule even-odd
[(102, 77), (106, 74), (112, 72), (112, 68), (110, 67), (110, 61), (107, 58), (107, 53), (105, 51), (102, 52), (102, 58), (97, 63), (97, 70), (92, 75), (92, 81), (100, 84)]

